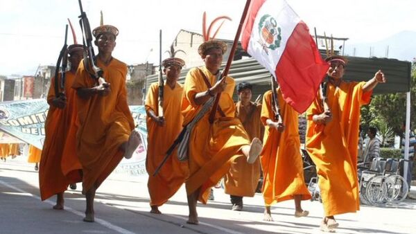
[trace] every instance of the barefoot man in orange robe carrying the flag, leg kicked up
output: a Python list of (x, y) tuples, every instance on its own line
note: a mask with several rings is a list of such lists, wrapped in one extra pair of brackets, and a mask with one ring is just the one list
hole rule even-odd
[(241, 121), (235, 118), (234, 79), (227, 76), (217, 81), (225, 51), (227, 45), (224, 42), (209, 40), (202, 43), (198, 53), (205, 66), (191, 69), (185, 78), (182, 99), (184, 125), (221, 93), (218, 105), (221, 111), (216, 111), (214, 123), (209, 123), (208, 111), (194, 125), (189, 136), (189, 178), (186, 182), (189, 224), (198, 224), (196, 202), (207, 203), (210, 188), (227, 174), (233, 157), (244, 155), (248, 163), (254, 163), (261, 152), (259, 138), (253, 138), (250, 143)]

